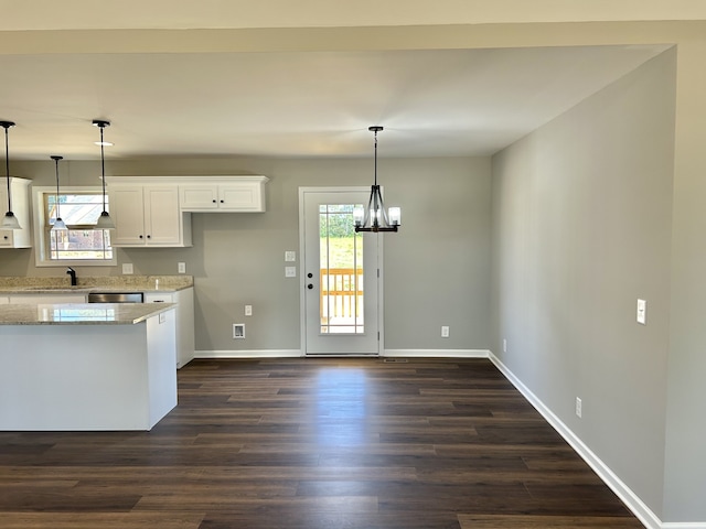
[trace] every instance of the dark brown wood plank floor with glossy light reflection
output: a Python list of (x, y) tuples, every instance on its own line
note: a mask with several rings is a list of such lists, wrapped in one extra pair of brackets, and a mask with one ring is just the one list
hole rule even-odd
[(0, 527), (642, 525), (489, 360), (298, 358), (192, 361), (151, 432), (0, 432)]

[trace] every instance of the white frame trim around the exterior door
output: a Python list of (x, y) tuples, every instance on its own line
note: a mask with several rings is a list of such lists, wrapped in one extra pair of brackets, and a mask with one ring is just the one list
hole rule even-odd
[[(381, 186), (382, 187), (382, 186)], [(306, 240), (304, 240), (304, 227), (306, 227), (306, 212), (304, 212), (304, 194), (307, 193), (370, 193), (370, 186), (303, 186), (299, 187), (299, 333), (300, 333), (300, 346), (301, 356), (307, 356), (307, 273), (304, 270), (306, 259)], [(364, 356), (384, 356), (385, 350), (385, 304), (383, 299), (383, 237), (379, 234), (363, 234), (363, 237), (375, 237), (375, 245), (377, 246), (377, 353), (373, 355)], [(325, 355), (312, 355), (317, 357)], [(338, 356), (338, 355), (335, 355)], [(345, 355), (356, 356), (356, 355)]]

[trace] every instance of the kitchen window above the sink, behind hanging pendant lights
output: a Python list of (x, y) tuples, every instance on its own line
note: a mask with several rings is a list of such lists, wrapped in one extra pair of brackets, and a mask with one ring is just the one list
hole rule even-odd
[[(114, 266), (110, 231), (95, 228), (103, 212), (100, 190), (65, 190), (56, 198), (56, 191), (35, 188), (36, 266)], [(57, 206), (68, 230), (52, 231)]]

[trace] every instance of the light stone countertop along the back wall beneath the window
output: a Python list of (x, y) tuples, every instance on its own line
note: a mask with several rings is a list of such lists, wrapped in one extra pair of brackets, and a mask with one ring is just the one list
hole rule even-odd
[(192, 276), (97, 276), (78, 277), (72, 287), (68, 276), (60, 278), (0, 277), (0, 294), (84, 294), (89, 292), (176, 292), (194, 285)]

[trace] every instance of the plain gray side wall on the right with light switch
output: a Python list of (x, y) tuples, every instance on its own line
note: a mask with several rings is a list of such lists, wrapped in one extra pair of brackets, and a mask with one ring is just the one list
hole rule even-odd
[(492, 349), (659, 516), (675, 64), (664, 53), (493, 158)]

